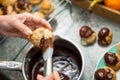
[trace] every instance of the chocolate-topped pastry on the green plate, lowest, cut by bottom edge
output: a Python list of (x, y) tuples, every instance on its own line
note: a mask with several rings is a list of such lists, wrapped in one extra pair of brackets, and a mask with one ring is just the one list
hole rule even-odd
[(110, 67), (103, 67), (95, 71), (94, 78), (96, 80), (116, 80), (116, 73)]

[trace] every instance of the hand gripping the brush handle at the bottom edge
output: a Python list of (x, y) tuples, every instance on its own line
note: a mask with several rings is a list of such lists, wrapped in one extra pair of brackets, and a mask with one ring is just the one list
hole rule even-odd
[(61, 79), (60, 79), (59, 73), (57, 71), (54, 71), (53, 74), (50, 74), (47, 77), (37, 75), (37, 80), (61, 80)]

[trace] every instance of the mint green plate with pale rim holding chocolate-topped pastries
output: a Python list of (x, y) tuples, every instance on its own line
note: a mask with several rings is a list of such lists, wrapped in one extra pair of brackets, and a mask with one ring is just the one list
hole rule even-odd
[[(118, 43), (118, 44), (120, 44), (120, 43)], [(110, 48), (108, 51), (106, 51), (106, 52), (113, 52), (113, 53), (117, 54), (117, 45), (118, 45), (118, 44), (114, 45), (113, 47), (111, 47), (111, 48)], [(105, 53), (106, 53), (106, 52), (105, 52)], [(102, 55), (102, 57), (101, 57), (100, 60), (98, 61), (98, 64), (97, 64), (97, 66), (96, 66), (96, 68), (95, 68), (95, 71), (96, 71), (97, 69), (100, 69), (100, 68), (105, 67), (105, 66), (107, 66), (107, 65), (106, 65), (106, 63), (105, 63), (105, 61), (104, 61), (104, 55)], [(94, 73), (95, 73), (95, 71), (94, 71)], [(96, 79), (94, 78), (94, 73), (93, 73), (92, 80), (96, 80)], [(120, 70), (116, 71), (116, 80), (120, 80)]]

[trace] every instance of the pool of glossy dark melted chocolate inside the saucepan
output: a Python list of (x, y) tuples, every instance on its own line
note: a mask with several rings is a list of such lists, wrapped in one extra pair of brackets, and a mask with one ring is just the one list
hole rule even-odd
[[(60, 74), (61, 80), (77, 80), (81, 74), (82, 58), (77, 48), (65, 40), (54, 43), (53, 69)], [(28, 80), (36, 80), (37, 74), (44, 71), (41, 50), (32, 47), (25, 60), (25, 74)]]

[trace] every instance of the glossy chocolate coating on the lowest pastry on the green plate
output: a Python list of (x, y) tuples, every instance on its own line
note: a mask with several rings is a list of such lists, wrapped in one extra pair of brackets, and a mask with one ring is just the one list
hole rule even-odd
[(112, 80), (113, 74), (111, 73), (110, 69), (98, 69), (95, 72), (95, 79), (96, 80)]

